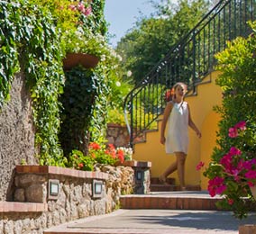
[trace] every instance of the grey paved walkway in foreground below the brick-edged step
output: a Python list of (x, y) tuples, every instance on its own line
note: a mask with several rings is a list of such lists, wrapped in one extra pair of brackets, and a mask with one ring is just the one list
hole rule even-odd
[[(118, 210), (49, 229), (46, 233), (87, 234), (238, 234), (255, 224), (256, 213), (236, 220), (230, 211)], [(50, 232), (54, 231), (54, 232)]]

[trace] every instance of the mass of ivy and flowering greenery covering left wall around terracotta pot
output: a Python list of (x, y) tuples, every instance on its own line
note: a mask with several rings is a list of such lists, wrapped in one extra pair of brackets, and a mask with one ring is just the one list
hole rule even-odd
[[(87, 14), (82, 13), (78, 2), (68, 0), (0, 3), (0, 107), (9, 98), (15, 73), (22, 72), (32, 96), (35, 144), (41, 165), (64, 166), (67, 163), (59, 145), (59, 110), (62, 108), (59, 96), (66, 84), (67, 94), (63, 94), (66, 100), (62, 101), (68, 107), (62, 109), (63, 130), (69, 125), (71, 130), (67, 130), (67, 134), (70, 136), (72, 132), (71, 137), (78, 132), (78, 140), (70, 138), (71, 145), (76, 140), (77, 145), (69, 148), (69, 152), (81, 147), (81, 139), (88, 144), (88, 137), (103, 136), (109, 80), (118, 60), (105, 40), (104, 3), (104, 0), (84, 3)], [(75, 4), (75, 10), (70, 9), (70, 4)], [(68, 52), (94, 54), (100, 58), (100, 64), (94, 71), (74, 68), (65, 74), (65, 84), (62, 59)], [(81, 91), (83, 93), (75, 94)], [(68, 100), (69, 93), (73, 99)], [(81, 106), (80, 101), (86, 105)], [(85, 116), (86, 113), (89, 115)], [(63, 130), (61, 134), (65, 135)]]

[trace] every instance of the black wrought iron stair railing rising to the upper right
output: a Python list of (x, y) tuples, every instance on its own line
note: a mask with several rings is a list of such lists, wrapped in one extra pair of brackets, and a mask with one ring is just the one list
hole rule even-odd
[(215, 53), (225, 48), (227, 40), (247, 36), (251, 32), (247, 22), (255, 19), (255, 0), (221, 0), (169, 50), (125, 97), (123, 109), (131, 146), (162, 113), (167, 89), (185, 82), (196, 92), (197, 85), (214, 69)]

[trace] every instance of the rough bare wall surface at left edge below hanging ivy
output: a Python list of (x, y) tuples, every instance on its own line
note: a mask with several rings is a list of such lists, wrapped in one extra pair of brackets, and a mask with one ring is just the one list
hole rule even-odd
[(10, 99), (0, 112), (0, 201), (10, 200), (14, 167), (22, 159), (36, 164), (32, 102), (22, 74), (14, 76)]

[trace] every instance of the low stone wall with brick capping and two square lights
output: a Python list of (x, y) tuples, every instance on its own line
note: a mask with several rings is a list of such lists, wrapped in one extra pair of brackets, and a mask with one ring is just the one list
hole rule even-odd
[[(44, 229), (70, 220), (114, 211), (121, 194), (133, 191), (133, 168), (103, 166), (100, 170), (86, 172), (56, 166), (16, 166), (14, 199), (17, 207), (5, 211), (0, 202), (0, 233), (42, 234)], [(50, 196), (51, 180), (59, 182), (59, 194), (55, 197)], [(101, 194), (94, 192), (94, 181), (102, 183)], [(23, 203), (45, 204), (45, 210), (19, 210)]]

